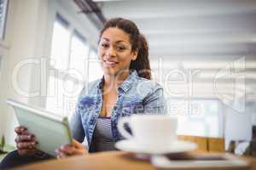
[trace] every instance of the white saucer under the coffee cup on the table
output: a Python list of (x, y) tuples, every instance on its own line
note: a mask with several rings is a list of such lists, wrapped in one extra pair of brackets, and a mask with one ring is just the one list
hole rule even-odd
[(137, 154), (162, 155), (195, 150), (197, 148), (197, 144), (183, 140), (176, 140), (172, 142), (172, 144), (166, 146), (147, 147), (146, 145), (137, 144), (134, 139), (125, 139), (115, 143), (115, 147), (119, 150), (125, 150)]

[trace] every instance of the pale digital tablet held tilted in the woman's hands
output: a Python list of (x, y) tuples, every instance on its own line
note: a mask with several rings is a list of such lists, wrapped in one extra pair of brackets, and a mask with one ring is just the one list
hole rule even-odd
[(26, 127), (29, 133), (36, 136), (38, 150), (55, 156), (55, 149), (62, 144), (72, 144), (67, 116), (58, 116), (13, 99), (7, 99), (7, 103), (14, 107), (20, 126)]

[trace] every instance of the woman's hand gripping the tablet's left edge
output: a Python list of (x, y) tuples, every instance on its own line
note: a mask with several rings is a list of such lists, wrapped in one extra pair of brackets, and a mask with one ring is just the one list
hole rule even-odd
[(26, 127), (15, 127), (15, 133), (17, 133), (15, 143), (20, 156), (34, 155), (38, 151), (36, 149), (38, 141), (34, 134), (27, 131)]

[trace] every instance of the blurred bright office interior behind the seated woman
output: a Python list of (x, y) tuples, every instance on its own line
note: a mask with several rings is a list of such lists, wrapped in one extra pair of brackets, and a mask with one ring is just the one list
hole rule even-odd
[(153, 80), (178, 134), (249, 141), (256, 125), (254, 0), (0, 0), (0, 135), (14, 144), (17, 99), (70, 116), (102, 77), (97, 41), (113, 17), (148, 39)]

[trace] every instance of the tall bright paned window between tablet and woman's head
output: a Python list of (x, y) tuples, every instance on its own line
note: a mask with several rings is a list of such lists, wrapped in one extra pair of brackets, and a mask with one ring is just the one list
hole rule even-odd
[(84, 86), (88, 54), (89, 46), (82, 34), (57, 14), (51, 44), (47, 110), (67, 116), (73, 112)]

